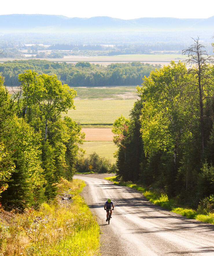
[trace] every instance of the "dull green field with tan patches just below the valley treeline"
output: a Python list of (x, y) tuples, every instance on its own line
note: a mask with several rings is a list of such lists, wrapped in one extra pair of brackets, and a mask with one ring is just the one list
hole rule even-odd
[[(141, 86), (141, 85), (139, 85)], [(73, 87), (78, 99), (137, 99), (136, 85), (107, 87)]]

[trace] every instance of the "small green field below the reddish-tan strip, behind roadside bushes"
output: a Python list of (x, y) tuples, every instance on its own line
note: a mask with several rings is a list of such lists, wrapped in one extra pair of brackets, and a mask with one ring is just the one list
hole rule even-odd
[(81, 147), (86, 150), (85, 157), (88, 157), (95, 151), (100, 157), (110, 159), (112, 163), (116, 161), (113, 154), (117, 150), (117, 147), (113, 141), (86, 141)]

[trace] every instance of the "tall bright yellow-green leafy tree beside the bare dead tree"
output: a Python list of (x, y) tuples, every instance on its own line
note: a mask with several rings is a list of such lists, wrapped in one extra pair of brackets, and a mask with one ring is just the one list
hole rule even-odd
[(141, 132), (145, 152), (152, 155), (160, 150), (174, 156), (174, 175), (177, 171), (177, 151), (181, 136), (186, 136), (190, 124), (189, 102), (185, 100), (184, 82), (188, 81), (185, 64), (171, 62), (159, 71), (144, 77), (138, 92), (143, 100)]

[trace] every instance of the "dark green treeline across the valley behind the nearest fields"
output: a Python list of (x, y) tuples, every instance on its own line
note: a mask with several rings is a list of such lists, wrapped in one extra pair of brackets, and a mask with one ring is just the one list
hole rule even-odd
[(63, 83), (75, 86), (115, 86), (141, 84), (142, 77), (158, 65), (141, 62), (115, 63), (108, 66), (92, 65), (89, 62), (68, 64), (41, 60), (14, 60), (0, 64), (0, 73), (5, 77), (6, 86), (19, 84), (18, 74), (35, 70), (38, 74), (57, 75)]

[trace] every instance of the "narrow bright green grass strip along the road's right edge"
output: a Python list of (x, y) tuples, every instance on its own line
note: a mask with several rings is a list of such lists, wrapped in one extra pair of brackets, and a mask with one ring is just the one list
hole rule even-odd
[(131, 181), (128, 181), (128, 182), (119, 181), (117, 179), (117, 176), (106, 177), (104, 179), (113, 181), (114, 184), (119, 186), (134, 188), (142, 192), (143, 195), (146, 197), (146, 199), (148, 199), (153, 204), (166, 208), (174, 213), (178, 213), (180, 215), (186, 216), (189, 219), (197, 219), (199, 221), (214, 224), (214, 213), (209, 213), (208, 215), (204, 215), (204, 214), (198, 213), (193, 209), (176, 207), (177, 206), (176, 200), (169, 199), (166, 194), (156, 190), (147, 190), (141, 185), (133, 184)]

